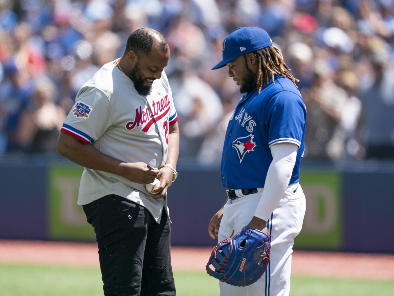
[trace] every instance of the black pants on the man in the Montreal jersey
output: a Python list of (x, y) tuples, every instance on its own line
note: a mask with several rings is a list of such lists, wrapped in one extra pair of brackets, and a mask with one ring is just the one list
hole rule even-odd
[(170, 224), (117, 195), (84, 205), (96, 233), (105, 296), (173, 296)]

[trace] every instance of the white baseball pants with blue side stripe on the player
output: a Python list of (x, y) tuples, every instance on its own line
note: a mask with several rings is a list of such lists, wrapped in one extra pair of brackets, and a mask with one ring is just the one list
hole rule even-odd
[[(228, 238), (233, 230), (237, 233), (251, 221), (261, 194), (258, 192), (227, 201), (218, 242)], [(302, 188), (299, 183), (289, 185), (267, 222), (268, 234), (273, 237), (266, 272), (247, 287), (219, 282), (220, 296), (288, 296), (294, 238), (301, 231), (304, 215), (305, 195)]]

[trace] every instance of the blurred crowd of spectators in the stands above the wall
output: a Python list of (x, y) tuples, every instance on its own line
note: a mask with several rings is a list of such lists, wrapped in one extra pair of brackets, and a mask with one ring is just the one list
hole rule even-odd
[(240, 99), (225, 36), (259, 26), (299, 79), (305, 158), (394, 159), (393, 0), (0, 0), (0, 155), (55, 152), (80, 87), (128, 35), (162, 31), (180, 156), (220, 160)]

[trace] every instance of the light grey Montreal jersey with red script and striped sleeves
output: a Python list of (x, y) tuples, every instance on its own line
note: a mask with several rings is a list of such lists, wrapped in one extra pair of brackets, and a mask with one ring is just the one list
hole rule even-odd
[[(161, 167), (167, 159), (169, 126), (178, 120), (167, 76), (153, 81), (141, 96), (113, 62), (105, 64), (78, 92), (61, 131), (125, 162)], [(116, 194), (145, 206), (160, 219), (167, 199), (153, 199), (145, 185), (85, 168), (78, 204)]]

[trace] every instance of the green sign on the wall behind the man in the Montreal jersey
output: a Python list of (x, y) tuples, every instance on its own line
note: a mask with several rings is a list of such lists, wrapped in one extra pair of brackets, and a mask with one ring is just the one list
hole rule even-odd
[(76, 202), (80, 178), (84, 169), (72, 166), (52, 166), (48, 171), (48, 232), (53, 240), (95, 241), (93, 227)]

